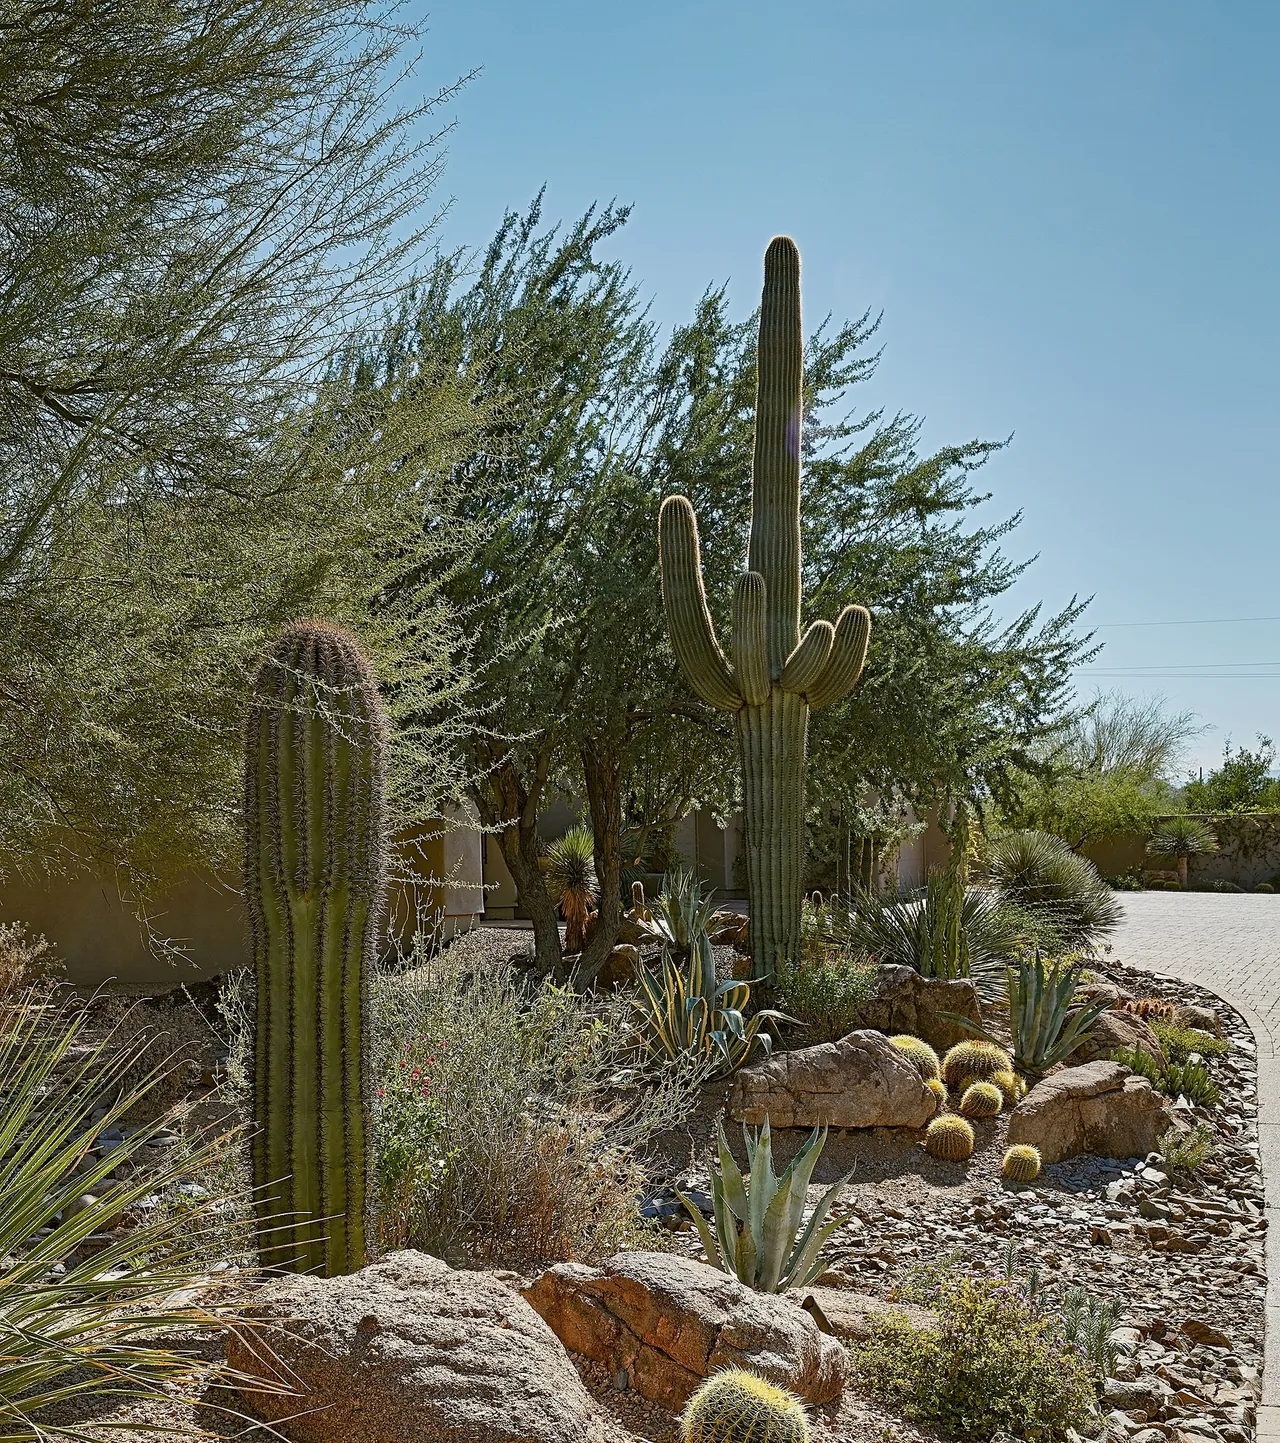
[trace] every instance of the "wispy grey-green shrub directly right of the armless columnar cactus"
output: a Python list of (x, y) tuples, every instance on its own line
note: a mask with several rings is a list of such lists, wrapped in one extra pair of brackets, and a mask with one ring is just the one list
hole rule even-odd
[(511, 1263), (648, 1238), (639, 1150), (700, 1074), (634, 1066), (625, 996), (590, 999), (459, 948), (378, 983), (382, 1242)]

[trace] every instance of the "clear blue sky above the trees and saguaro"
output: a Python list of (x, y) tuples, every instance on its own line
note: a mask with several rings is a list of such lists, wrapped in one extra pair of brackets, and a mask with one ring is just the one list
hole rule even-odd
[(1013, 434), (1014, 602), (1095, 596), (1082, 690), (1196, 711), (1206, 766), (1280, 740), (1280, 6), (437, 4), (421, 79), (475, 66), (446, 242), (543, 183), (631, 202), (615, 250), (670, 323), (709, 281), (749, 310), (786, 231), (810, 319), (883, 312), (860, 404)]

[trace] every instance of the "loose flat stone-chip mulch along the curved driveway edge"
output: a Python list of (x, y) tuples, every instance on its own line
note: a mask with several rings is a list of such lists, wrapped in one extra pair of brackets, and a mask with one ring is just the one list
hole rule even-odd
[[(854, 1180), (836, 1206), (847, 1227), (833, 1238), (823, 1281), (887, 1296), (915, 1268), (948, 1254), (974, 1271), (1000, 1271), (1012, 1244), (1023, 1276), (1036, 1267), (1048, 1300), (1061, 1302), (1078, 1286), (1120, 1303), (1121, 1356), (1104, 1398), (1113, 1437), (1248, 1443), (1266, 1297), (1253, 1035), (1204, 988), (1114, 961), (1094, 971), (1134, 996), (1217, 1013), (1232, 1043), (1225, 1058), (1209, 1062), (1221, 1102), (1214, 1110), (1179, 1105), (1189, 1123), (1212, 1128), (1212, 1159), (1195, 1172), (1175, 1172), (1159, 1154), (1081, 1156), (1048, 1165), (1032, 1186), (1013, 1188), (999, 1173), (1003, 1117), (976, 1126), (977, 1152), (964, 1165), (925, 1156), (900, 1130), (833, 1134), (811, 1201), (850, 1169)], [(789, 1139), (778, 1141), (785, 1160)], [(706, 1188), (697, 1170), (684, 1180)], [(677, 1234), (677, 1247), (701, 1255), (691, 1229)]]

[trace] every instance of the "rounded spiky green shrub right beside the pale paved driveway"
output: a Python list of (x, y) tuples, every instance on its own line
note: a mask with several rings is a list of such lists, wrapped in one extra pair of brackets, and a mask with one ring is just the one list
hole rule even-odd
[(987, 847), (987, 874), (1006, 902), (1043, 919), (1065, 949), (1090, 947), (1120, 922), (1098, 869), (1049, 833), (996, 837)]

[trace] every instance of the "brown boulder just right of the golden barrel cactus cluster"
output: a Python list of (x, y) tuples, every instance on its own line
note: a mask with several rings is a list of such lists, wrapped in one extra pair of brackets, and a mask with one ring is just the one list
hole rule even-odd
[(1009, 1115), (1009, 1143), (1032, 1143), (1046, 1163), (1077, 1153), (1146, 1157), (1173, 1126), (1167, 1101), (1118, 1062), (1064, 1068)]

